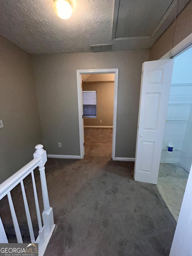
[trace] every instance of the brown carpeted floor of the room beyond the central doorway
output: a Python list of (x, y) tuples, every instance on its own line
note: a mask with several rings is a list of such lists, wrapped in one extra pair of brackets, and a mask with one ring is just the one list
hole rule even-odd
[(84, 128), (85, 157), (112, 157), (113, 128)]

